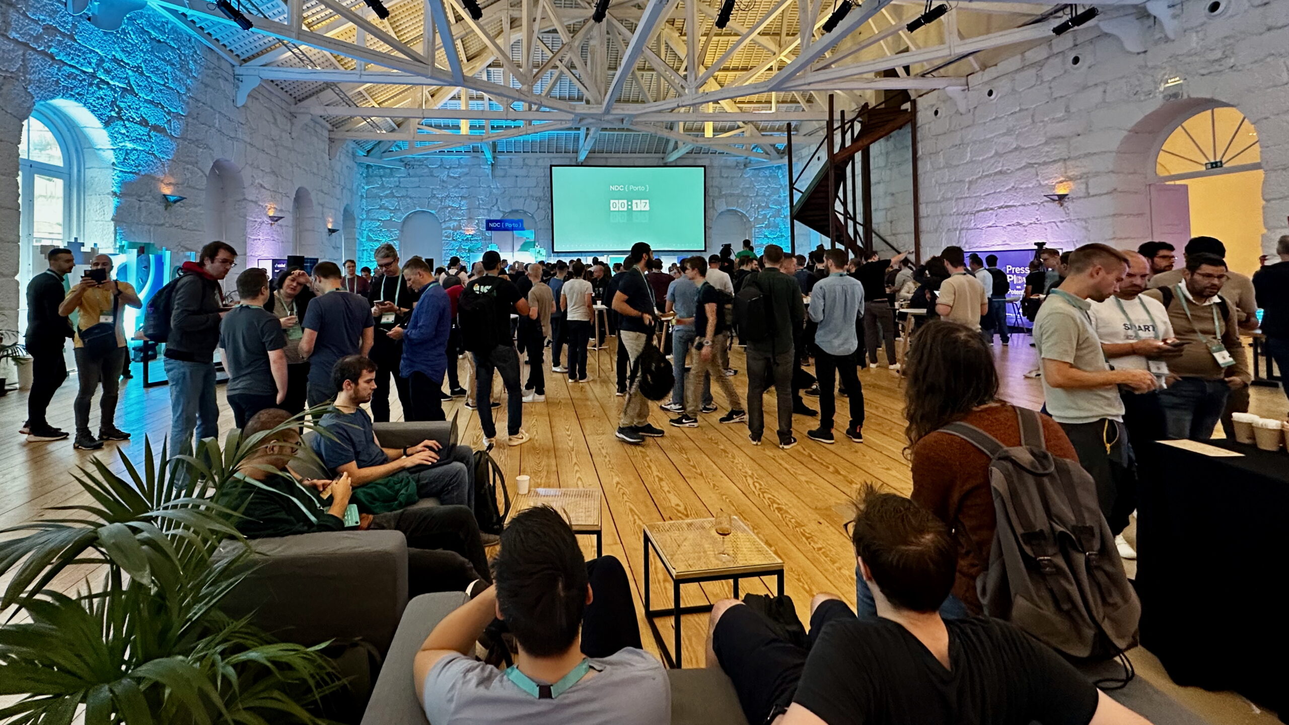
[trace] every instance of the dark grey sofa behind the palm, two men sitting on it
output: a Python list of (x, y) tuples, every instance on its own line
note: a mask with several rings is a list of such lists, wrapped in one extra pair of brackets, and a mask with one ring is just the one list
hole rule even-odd
[[(449, 444), (446, 422), (376, 423), (385, 448), (423, 440)], [(308, 433), (308, 439), (317, 433)], [(316, 462), (293, 462), (300, 475), (324, 477)], [(423, 499), (415, 506), (437, 506)], [(363, 642), (382, 657), (407, 605), (407, 542), (398, 531), (329, 531), (255, 539), (255, 568), (224, 599), (232, 617), (253, 615), (260, 628), (303, 645)], [(226, 542), (227, 556), (238, 547)]]

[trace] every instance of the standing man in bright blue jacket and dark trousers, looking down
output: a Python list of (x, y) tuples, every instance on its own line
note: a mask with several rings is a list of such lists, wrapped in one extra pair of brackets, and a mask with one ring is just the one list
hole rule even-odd
[(401, 332), (403, 353), (398, 374), (407, 379), (411, 402), (410, 409), (403, 410), (403, 419), (446, 421), (443, 373), (447, 372), (447, 338), (452, 334), (452, 302), (443, 285), (432, 284), (434, 273), (420, 257), (405, 262), (402, 275), (407, 286), (420, 294), (407, 328)]

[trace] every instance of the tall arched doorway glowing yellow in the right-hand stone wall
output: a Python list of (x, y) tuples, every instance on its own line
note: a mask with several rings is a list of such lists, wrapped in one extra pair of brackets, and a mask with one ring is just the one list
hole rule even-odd
[[(1218, 106), (1181, 119), (1159, 147), (1151, 181), (1173, 187), (1163, 190), (1163, 197), (1170, 197), (1176, 214), (1185, 209), (1188, 236), (1222, 240), (1231, 270), (1245, 275), (1257, 271), (1266, 232), (1262, 148), (1244, 114)], [(1156, 196), (1152, 194), (1152, 206)]]

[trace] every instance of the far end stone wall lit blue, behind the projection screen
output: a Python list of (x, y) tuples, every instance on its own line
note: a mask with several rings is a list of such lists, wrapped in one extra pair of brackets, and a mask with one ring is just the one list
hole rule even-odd
[[(572, 164), (572, 156), (500, 155), (489, 168), (480, 156), (425, 156), (411, 159), (406, 168), (365, 166), (358, 255), (370, 263), (371, 253), (385, 241), (398, 241), (402, 219), (416, 210), (433, 212), (443, 226), (443, 258), (468, 257), (487, 249), (491, 241), (483, 219), (512, 210), (531, 214), (538, 222), (539, 246), (550, 249), (552, 164)], [(656, 165), (656, 157), (590, 156), (585, 165)], [(710, 231), (717, 214), (736, 209), (748, 217), (753, 240), (788, 248), (788, 187), (782, 164), (749, 168), (755, 161), (719, 156), (682, 157), (675, 165), (705, 165)], [(463, 226), (478, 230), (465, 233)], [(737, 248), (736, 248), (737, 249)]]

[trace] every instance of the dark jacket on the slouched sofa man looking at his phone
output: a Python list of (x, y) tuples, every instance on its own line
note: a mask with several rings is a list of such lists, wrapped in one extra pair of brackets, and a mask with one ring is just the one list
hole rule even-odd
[[(241, 511), (237, 530), (249, 539), (290, 537), (316, 531), (339, 531), (344, 521), (327, 513), (316, 493), (287, 473), (271, 473), (259, 485), (233, 479), (222, 503)], [(263, 486), (263, 488), (262, 488)]]

